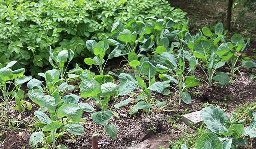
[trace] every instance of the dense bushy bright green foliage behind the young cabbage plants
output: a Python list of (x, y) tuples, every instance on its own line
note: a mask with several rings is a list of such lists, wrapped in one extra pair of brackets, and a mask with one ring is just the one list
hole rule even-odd
[[(49, 65), (49, 47), (72, 49), (79, 61), (92, 53), (87, 39), (111, 38), (114, 22), (131, 18), (172, 17), (186, 13), (166, 0), (6, 0), (0, 3), (0, 63), (30, 64), (32, 75)], [(81, 59), (80, 59), (81, 58)]]

